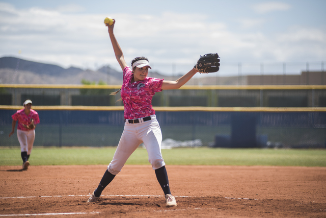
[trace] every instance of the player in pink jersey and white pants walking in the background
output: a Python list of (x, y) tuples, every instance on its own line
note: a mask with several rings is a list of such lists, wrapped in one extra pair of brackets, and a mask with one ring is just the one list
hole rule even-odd
[(40, 123), (39, 114), (32, 109), (32, 101), (26, 100), (23, 103), (24, 108), (17, 110), (12, 117), (12, 131), (9, 137), (14, 134), (16, 122), (18, 120), (17, 137), (20, 143), (22, 158), (22, 169), (27, 169), (30, 165), (29, 158), (33, 149), (35, 140), (35, 127)]

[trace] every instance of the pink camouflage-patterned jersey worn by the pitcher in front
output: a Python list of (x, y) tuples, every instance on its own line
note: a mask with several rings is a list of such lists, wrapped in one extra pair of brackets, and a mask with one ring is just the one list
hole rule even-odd
[(155, 92), (162, 91), (163, 79), (146, 77), (144, 80), (131, 83), (132, 70), (126, 66), (123, 69), (123, 84), (121, 98), (124, 105), (124, 118), (137, 119), (155, 114), (152, 98)]

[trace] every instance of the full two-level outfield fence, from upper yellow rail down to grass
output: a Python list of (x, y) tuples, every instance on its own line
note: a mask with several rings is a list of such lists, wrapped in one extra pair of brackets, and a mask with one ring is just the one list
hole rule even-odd
[[(0, 147), (19, 147), (11, 115), (33, 101), (35, 146), (117, 146), (120, 85), (0, 84)], [(119, 92), (120, 93), (120, 92)], [(154, 95), (163, 148), (325, 148), (326, 86), (183, 86)]]

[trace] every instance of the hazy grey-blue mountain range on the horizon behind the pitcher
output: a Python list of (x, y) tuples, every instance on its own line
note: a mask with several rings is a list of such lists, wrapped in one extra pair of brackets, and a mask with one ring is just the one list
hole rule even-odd
[[(175, 79), (157, 72), (150, 77)], [(15, 57), (0, 58), (0, 83), (2, 84), (82, 84), (82, 80), (98, 83), (100, 80), (110, 85), (122, 84), (122, 71), (110, 66), (97, 70), (77, 67), (63, 68), (54, 64), (39, 63)]]

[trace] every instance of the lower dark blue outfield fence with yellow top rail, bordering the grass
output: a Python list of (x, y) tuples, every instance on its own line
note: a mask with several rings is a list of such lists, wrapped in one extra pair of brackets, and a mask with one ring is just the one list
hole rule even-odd
[[(0, 147), (19, 147), (11, 115), (0, 106)], [(36, 147), (117, 146), (123, 106), (33, 106), (41, 123)], [(326, 108), (155, 107), (162, 148), (325, 148)], [(16, 131), (15, 131), (16, 132)]]

